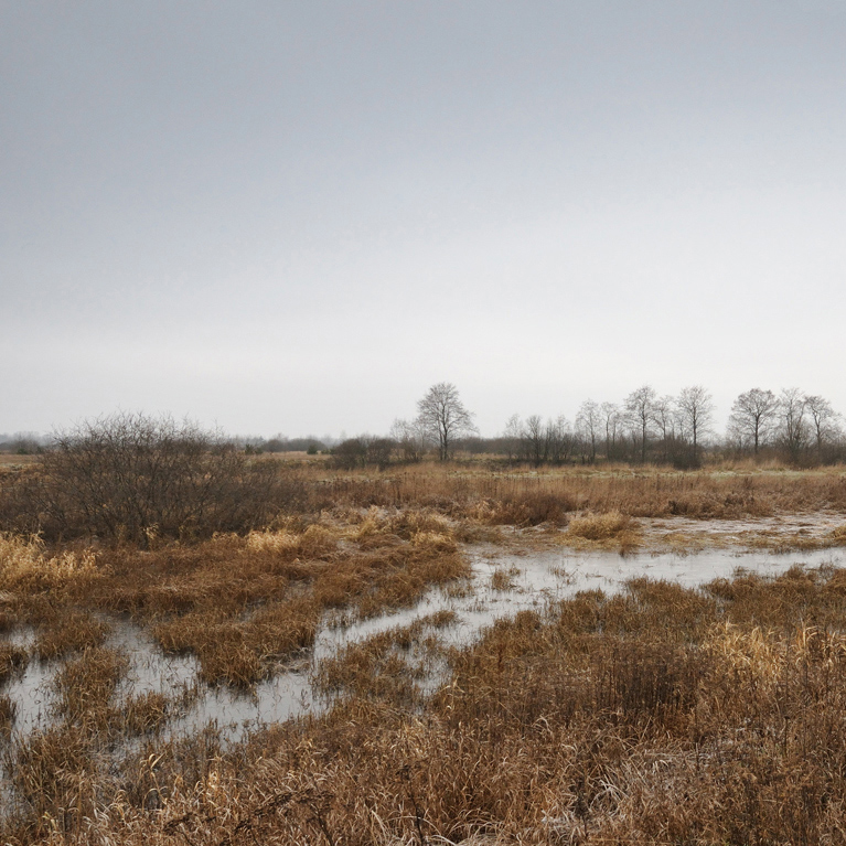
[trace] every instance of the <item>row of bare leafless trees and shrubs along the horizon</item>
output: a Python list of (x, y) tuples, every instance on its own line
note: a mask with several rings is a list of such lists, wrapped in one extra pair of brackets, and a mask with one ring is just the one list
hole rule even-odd
[(417, 417), (395, 420), (387, 437), (349, 438), (333, 449), (339, 467), (386, 467), (431, 454), (501, 456), (510, 463), (664, 463), (699, 467), (707, 457), (780, 460), (797, 467), (846, 460), (843, 419), (822, 396), (785, 388), (751, 388), (731, 406), (725, 433), (715, 428), (710, 392), (685, 387), (660, 395), (651, 385), (622, 403), (585, 400), (574, 420), (564, 415), (513, 415), (495, 438), (482, 438), (473, 414), (451, 383), (433, 385), (418, 403)]

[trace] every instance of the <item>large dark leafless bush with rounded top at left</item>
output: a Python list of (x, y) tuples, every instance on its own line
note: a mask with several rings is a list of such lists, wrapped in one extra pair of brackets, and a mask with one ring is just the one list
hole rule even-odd
[(119, 414), (60, 432), (39, 471), (7, 482), (2, 522), (47, 537), (146, 543), (270, 522), (296, 499), (276, 462), (172, 418)]

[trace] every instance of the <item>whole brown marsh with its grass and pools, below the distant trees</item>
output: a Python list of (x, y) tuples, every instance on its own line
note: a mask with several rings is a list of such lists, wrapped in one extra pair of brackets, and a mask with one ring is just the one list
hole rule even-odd
[(839, 471), (232, 467), (0, 476), (4, 842), (846, 839)]

